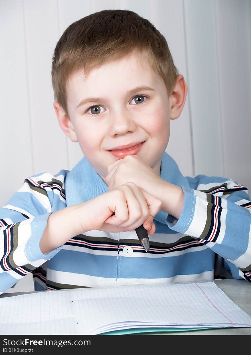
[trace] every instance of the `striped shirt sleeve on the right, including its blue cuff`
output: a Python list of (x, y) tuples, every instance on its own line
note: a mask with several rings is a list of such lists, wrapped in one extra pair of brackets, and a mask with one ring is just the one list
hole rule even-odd
[(194, 237), (221, 256), (224, 268), (234, 278), (251, 282), (249, 192), (233, 180), (209, 185), (206, 190), (201, 189), (201, 181), (199, 190), (182, 186), (184, 206), (180, 218), (168, 215), (166, 223), (170, 229)]

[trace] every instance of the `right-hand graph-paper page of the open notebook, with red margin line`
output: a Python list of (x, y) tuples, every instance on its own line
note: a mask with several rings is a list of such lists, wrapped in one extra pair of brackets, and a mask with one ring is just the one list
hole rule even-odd
[(71, 296), (82, 334), (135, 326), (251, 326), (251, 317), (214, 282), (89, 288)]

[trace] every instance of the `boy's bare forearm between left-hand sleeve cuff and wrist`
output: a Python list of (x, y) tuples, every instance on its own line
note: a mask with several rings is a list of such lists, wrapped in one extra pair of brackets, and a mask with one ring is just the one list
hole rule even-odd
[[(84, 203), (81, 205), (84, 205)], [(80, 230), (80, 223), (78, 223), (77, 218), (79, 207), (78, 204), (50, 214), (39, 244), (43, 254), (60, 247), (73, 236), (84, 233), (84, 230)]]

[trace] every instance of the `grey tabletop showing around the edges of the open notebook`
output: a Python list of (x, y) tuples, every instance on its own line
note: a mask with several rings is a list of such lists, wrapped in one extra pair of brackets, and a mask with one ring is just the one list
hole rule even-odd
[[(208, 282), (208, 281), (200, 281)], [(193, 282), (194, 283), (194, 282)], [(251, 283), (246, 280), (228, 279), (228, 280), (214, 280), (214, 283), (222, 289), (222, 291), (238, 305), (243, 311), (251, 315)], [(79, 290), (79, 289), (76, 289)], [(73, 291), (65, 290), (65, 291)], [(48, 292), (48, 291), (37, 291)], [(1, 297), (11, 297), (34, 292), (16, 292), (4, 293)], [(179, 331), (179, 332), (153, 332), (153, 333), (137, 333), (136, 335), (250, 335), (250, 328), (220, 328), (220, 329), (206, 329), (198, 331)]]

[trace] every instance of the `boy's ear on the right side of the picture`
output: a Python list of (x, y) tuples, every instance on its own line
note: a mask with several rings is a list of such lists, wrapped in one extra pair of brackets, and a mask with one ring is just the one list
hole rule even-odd
[(186, 82), (183, 75), (177, 75), (176, 84), (169, 98), (171, 120), (175, 120), (180, 116), (181, 111), (185, 105), (187, 92), (188, 87), (186, 86)]

